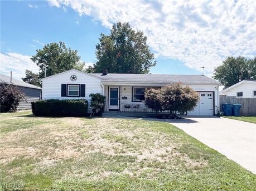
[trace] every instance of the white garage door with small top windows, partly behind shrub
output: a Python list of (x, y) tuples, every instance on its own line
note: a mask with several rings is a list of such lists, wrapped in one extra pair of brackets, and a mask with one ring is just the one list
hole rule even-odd
[(214, 115), (213, 92), (199, 92), (199, 103), (187, 115)]

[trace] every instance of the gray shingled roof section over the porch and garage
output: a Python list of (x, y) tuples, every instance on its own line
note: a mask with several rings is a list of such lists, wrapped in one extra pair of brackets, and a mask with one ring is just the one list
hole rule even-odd
[(218, 81), (202, 75), (170, 75), (170, 74), (107, 74), (90, 73), (99, 77), (103, 82), (149, 82), (149, 83), (204, 83), (220, 84)]

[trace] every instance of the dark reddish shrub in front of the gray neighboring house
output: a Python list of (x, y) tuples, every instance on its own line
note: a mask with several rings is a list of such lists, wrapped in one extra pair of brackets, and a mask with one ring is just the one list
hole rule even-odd
[(0, 84), (1, 112), (16, 112), (18, 104), (25, 100), (25, 94), (16, 86)]

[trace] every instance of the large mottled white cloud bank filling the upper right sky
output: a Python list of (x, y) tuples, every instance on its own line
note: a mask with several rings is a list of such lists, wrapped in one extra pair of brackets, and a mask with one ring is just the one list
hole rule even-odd
[[(54, 2), (54, 3), (53, 3)], [(256, 55), (256, 1), (49, 1), (93, 17), (105, 27), (129, 22), (158, 57), (212, 72), (228, 56)]]

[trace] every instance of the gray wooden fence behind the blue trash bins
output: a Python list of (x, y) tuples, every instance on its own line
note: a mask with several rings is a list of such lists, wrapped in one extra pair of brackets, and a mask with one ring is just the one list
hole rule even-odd
[(241, 104), (241, 116), (256, 116), (256, 98), (236, 98), (235, 96), (220, 96), (220, 112), (223, 112), (224, 103)]

